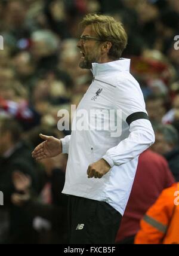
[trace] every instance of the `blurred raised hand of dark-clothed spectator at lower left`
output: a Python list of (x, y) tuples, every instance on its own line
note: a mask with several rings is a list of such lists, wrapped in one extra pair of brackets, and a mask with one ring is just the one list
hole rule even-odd
[(31, 178), (22, 172), (13, 173), (13, 184), (17, 191), (27, 191), (31, 186)]

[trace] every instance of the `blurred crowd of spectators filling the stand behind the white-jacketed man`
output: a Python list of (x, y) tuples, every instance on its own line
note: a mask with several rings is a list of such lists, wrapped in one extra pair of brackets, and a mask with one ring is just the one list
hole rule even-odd
[[(78, 105), (91, 84), (91, 71), (79, 68), (76, 44), (79, 22), (94, 12), (124, 23), (128, 46), (122, 57), (131, 59), (156, 135), (153, 147), (140, 157), (141, 175), (131, 193), (135, 206), (128, 205), (116, 242), (134, 241), (145, 212), (163, 189), (179, 181), (179, 42), (174, 40), (179, 2), (1, 0), (0, 243), (67, 243), (67, 196), (61, 194), (67, 156), (35, 162), (31, 152), (42, 142), (39, 133), (57, 138), (70, 134), (57, 129), (57, 113)], [(140, 198), (146, 204), (137, 201), (141, 182), (148, 188)]]

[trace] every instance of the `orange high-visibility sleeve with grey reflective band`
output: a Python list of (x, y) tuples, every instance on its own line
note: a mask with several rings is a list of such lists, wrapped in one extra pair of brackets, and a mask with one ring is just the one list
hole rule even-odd
[(135, 236), (135, 244), (162, 243), (174, 208), (173, 193), (169, 196), (166, 193), (167, 190), (163, 190), (161, 196), (141, 220), (140, 230)]

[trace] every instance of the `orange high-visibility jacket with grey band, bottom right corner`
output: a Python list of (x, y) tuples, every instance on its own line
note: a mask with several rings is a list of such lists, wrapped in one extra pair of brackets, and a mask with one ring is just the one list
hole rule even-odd
[(163, 190), (140, 225), (135, 244), (179, 244), (179, 182)]

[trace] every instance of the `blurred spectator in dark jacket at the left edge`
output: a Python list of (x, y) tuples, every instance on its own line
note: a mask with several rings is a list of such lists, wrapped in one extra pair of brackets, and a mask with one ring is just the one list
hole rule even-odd
[[(11, 118), (0, 120), (0, 191), (4, 193), (4, 206), (0, 209), (6, 212), (5, 218), (0, 216), (1, 227), (7, 223), (7, 239), (4, 231), (0, 243), (34, 243), (35, 236), (32, 229), (32, 219), (11, 201), (11, 196), (16, 192), (13, 185), (13, 173), (17, 170), (26, 173), (32, 179), (32, 187), (36, 188), (36, 164), (30, 156), (31, 148), (21, 140), (21, 127)], [(5, 214), (4, 214), (5, 216)], [(9, 224), (9, 226), (8, 226)], [(0, 237), (1, 238), (1, 237)]]

